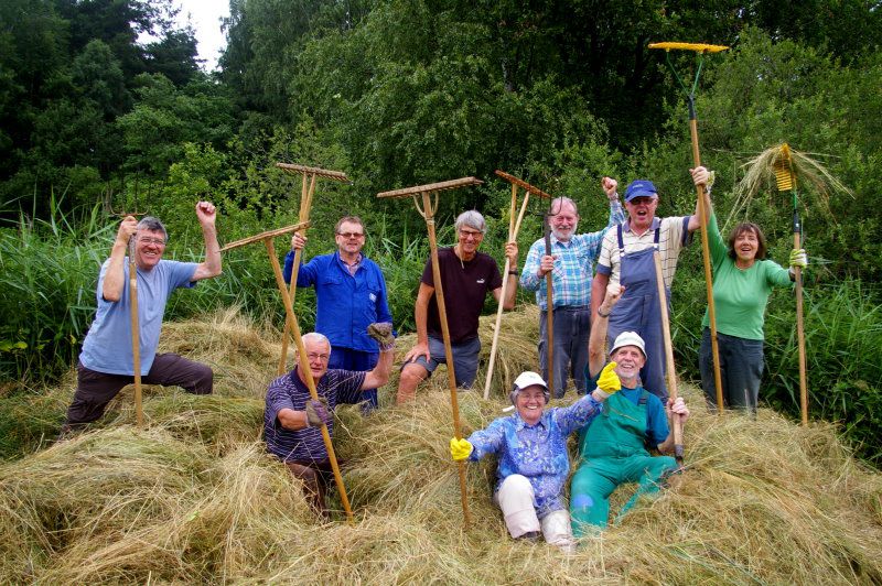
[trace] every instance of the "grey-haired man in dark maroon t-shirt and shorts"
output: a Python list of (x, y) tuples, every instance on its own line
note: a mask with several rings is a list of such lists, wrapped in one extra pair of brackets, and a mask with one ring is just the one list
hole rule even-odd
[[(503, 282), (499, 268), (493, 257), (477, 251), (486, 230), (486, 223), (481, 214), (473, 209), (463, 211), (456, 218), (459, 242), (452, 248), (442, 248), (438, 251), (458, 387), (471, 387), (475, 380), (477, 357), (481, 351), (477, 318), (487, 293), (492, 292), (494, 299), (506, 310), (515, 306), (518, 276), (517, 242), (505, 245), (505, 256), (508, 257), (510, 270), (505, 275), (508, 279), (506, 299), (501, 300)], [(417, 323), (417, 344), (405, 356), (398, 382), (398, 404), (412, 401), (417, 395), (417, 386), (428, 378), (438, 365), (447, 362), (431, 259), (422, 271), (413, 313)]]

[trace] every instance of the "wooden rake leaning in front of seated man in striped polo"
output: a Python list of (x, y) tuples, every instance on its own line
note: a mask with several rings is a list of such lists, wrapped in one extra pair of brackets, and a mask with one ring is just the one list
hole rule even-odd
[[(288, 318), (286, 323), (290, 324), (290, 332), (294, 338), (294, 345), (297, 346), (300, 370), (306, 379), (306, 387), (309, 387), (310, 397), (312, 397), (314, 401), (318, 401), (319, 392), (315, 390), (315, 380), (312, 378), (310, 363), (306, 359), (306, 348), (303, 346), (303, 338), (300, 335), (300, 326), (298, 325), (297, 316), (294, 315), (294, 307), (291, 303), (291, 297), (288, 295), (288, 287), (284, 286), (282, 268), (279, 265), (279, 258), (276, 256), (276, 246), (272, 243), (272, 239), (277, 236), (303, 230), (306, 227), (309, 227), (309, 223), (301, 221), (300, 224), (293, 224), (291, 226), (286, 226), (284, 228), (278, 228), (276, 230), (269, 230), (256, 236), (243, 238), (241, 240), (236, 240), (235, 242), (228, 243), (220, 249), (220, 252), (226, 252), (227, 250), (233, 250), (234, 248), (244, 247), (246, 245), (259, 241), (262, 241), (267, 247), (267, 256), (269, 257), (269, 262), (272, 265), (272, 272), (276, 274), (276, 285), (279, 287), (279, 293), (281, 294), (282, 303), (284, 304), (284, 314)], [(295, 281), (292, 279), (292, 282)], [(340, 466), (337, 465), (337, 458), (334, 454), (334, 444), (331, 442), (331, 434), (327, 432), (327, 425), (325, 424), (322, 424), (322, 441), (324, 442), (325, 449), (327, 449), (327, 457), (331, 460), (331, 468), (334, 471), (334, 481), (337, 485), (340, 500), (343, 502), (343, 509), (346, 511), (346, 520), (352, 523), (353, 518), (352, 508), (349, 507), (349, 499), (346, 496), (346, 487), (343, 486), (343, 477), (340, 475)]]

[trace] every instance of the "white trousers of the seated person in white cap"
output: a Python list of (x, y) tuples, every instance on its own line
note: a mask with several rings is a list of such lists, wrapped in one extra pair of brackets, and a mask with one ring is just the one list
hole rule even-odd
[(561, 509), (546, 514), (539, 521), (534, 507), (533, 485), (527, 477), (513, 474), (503, 480), (494, 498), (503, 511), (505, 527), (508, 528), (512, 538), (517, 539), (525, 533), (541, 531), (547, 543), (572, 551), (570, 513)]

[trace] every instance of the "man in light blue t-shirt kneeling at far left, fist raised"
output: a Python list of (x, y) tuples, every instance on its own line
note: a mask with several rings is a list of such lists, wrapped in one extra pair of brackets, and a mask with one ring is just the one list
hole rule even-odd
[(178, 287), (220, 274), (220, 247), (213, 204), (196, 204), (196, 218), (205, 239), (205, 259), (200, 262), (163, 260), (168, 234), (162, 223), (147, 216), (131, 216), (119, 225), (110, 258), (98, 276), (98, 308), (83, 343), (77, 363), (76, 393), (67, 409), (62, 436), (96, 421), (114, 397), (135, 380), (129, 291), (129, 240), (135, 238), (138, 279), (138, 327), (140, 329), (141, 377), (146, 384), (183, 387), (187, 392), (212, 392), (212, 369), (176, 354), (157, 354), (165, 302)]

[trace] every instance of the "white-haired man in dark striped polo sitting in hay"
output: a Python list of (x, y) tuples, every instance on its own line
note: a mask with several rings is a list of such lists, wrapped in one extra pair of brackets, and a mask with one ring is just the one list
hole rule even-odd
[[(385, 336), (372, 332), (378, 325)], [(325, 518), (329, 513), (324, 492), (332, 469), (321, 427), (327, 425), (327, 433), (333, 437), (334, 406), (358, 403), (364, 400), (363, 391), (386, 384), (395, 357), (391, 324), (372, 324), (368, 332), (379, 343), (379, 360), (374, 370), (329, 369), (331, 343), (323, 334), (313, 332), (303, 336), (303, 347), (320, 400), (310, 397), (306, 378), (299, 363), (273, 380), (267, 390), (263, 411), (267, 451), (303, 480), (313, 509)]]

